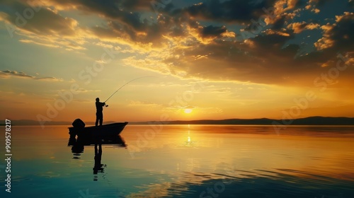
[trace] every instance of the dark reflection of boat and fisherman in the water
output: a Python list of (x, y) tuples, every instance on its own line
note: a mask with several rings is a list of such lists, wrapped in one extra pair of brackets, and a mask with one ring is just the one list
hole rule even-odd
[(74, 159), (79, 159), (81, 157), (81, 153), (84, 153), (84, 147), (85, 146), (95, 146), (95, 155), (94, 155), (94, 165), (93, 165), (93, 177), (94, 181), (98, 180), (97, 173), (104, 173), (105, 167), (107, 167), (106, 164), (102, 164), (102, 144), (104, 145), (110, 145), (110, 146), (119, 146), (119, 147), (124, 147), (127, 148), (127, 145), (125, 144), (125, 141), (122, 139), (120, 135), (115, 136), (115, 137), (110, 137), (107, 139), (104, 136), (97, 137), (96, 139), (90, 139), (90, 141), (87, 141), (87, 139), (82, 138), (81, 136), (78, 136), (76, 138), (75, 135), (70, 135), (68, 146), (72, 146), (72, 153), (73, 153), (73, 158)]

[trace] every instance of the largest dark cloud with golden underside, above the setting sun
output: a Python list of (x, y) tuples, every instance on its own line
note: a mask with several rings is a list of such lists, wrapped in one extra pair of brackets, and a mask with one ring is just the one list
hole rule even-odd
[[(261, 31), (247, 40), (227, 40), (236, 37), (236, 33), (227, 26), (250, 24), (251, 19), (258, 21), (257, 17), (265, 14), (262, 9), (265, 1), (260, 2), (251, 4), (246, 1), (207, 1), (164, 11), (164, 16), (159, 16), (158, 23), (154, 26), (154, 39), (149, 37), (149, 30), (152, 28), (149, 25), (145, 29), (139, 26), (139, 30), (144, 30), (144, 33), (137, 34), (137, 28), (127, 31), (127, 27), (117, 21), (110, 24), (110, 28), (98, 28), (102, 32), (97, 35), (107, 33), (110, 38), (120, 35), (120, 39), (130, 42), (154, 43), (149, 50), (142, 53), (145, 57), (134, 56), (124, 61), (126, 65), (162, 74), (212, 81), (311, 85), (313, 78), (321, 74), (321, 65), (330, 59), (336, 59), (336, 54), (313, 51), (304, 57), (296, 57), (301, 50), (300, 43), (289, 43), (304, 30), (320, 27), (320, 23), (312, 21), (292, 21), (295, 16), (299, 16), (300, 10), (296, 9), (302, 6), (299, 1), (267, 1), (268, 8), (279, 16), (266, 22)], [(246, 9), (232, 15), (231, 11), (236, 8), (230, 6), (231, 4), (238, 4), (241, 5), (239, 8), (244, 6)], [(213, 25), (201, 25), (203, 21), (210, 21)], [(226, 33), (232, 33), (234, 37), (225, 36)], [(155, 42), (159, 44), (156, 45)], [(164, 45), (167, 42), (173, 45)], [(158, 46), (161, 49), (156, 48)], [(299, 78), (306, 80), (299, 81)]]

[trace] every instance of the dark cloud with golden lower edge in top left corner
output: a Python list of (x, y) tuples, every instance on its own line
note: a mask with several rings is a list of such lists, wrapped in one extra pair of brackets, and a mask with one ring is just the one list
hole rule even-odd
[(81, 45), (86, 42), (82, 37), (86, 32), (79, 28), (79, 22), (60, 15), (43, 2), (4, 1), (0, 21), (6, 23), (9, 35), (18, 35), (20, 42), (45, 47), (85, 50)]

